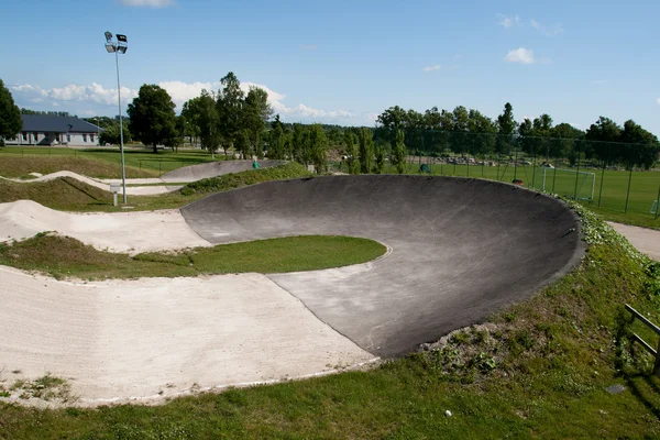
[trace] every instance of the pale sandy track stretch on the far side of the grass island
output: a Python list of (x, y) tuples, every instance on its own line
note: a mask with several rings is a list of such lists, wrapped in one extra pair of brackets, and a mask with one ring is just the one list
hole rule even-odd
[(0, 204), (0, 242), (56, 231), (100, 250), (147, 252), (208, 246), (176, 209), (154, 212), (70, 213), (32, 200)]

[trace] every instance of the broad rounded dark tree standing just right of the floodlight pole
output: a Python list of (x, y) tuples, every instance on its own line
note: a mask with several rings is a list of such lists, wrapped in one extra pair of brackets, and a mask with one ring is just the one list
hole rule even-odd
[(143, 85), (138, 97), (129, 105), (130, 130), (145, 145), (173, 145), (176, 138), (175, 103), (169, 94), (156, 85)]

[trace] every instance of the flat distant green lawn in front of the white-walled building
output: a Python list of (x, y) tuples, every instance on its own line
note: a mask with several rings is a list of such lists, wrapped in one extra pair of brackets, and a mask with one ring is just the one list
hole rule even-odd
[[(67, 147), (21, 147), (21, 146), (4, 146), (0, 147), (0, 163), (4, 162), (9, 157), (25, 157), (32, 158), (35, 166), (46, 158), (59, 158), (76, 160), (76, 158), (88, 158), (91, 161), (100, 161), (108, 165), (111, 165), (116, 169), (116, 174), (111, 176), (107, 175), (94, 175), (86, 174), (89, 177), (121, 177), (121, 155), (119, 148), (67, 148)], [(35, 158), (38, 158), (35, 161)], [(223, 154), (216, 154), (216, 160), (223, 160)], [(170, 172), (182, 166), (196, 165), (205, 162), (211, 162), (211, 155), (208, 152), (199, 150), (179, 150), (178, 153), (166, 151), (154, 154), (151, 148), (125, 148), (124, 160), (127, 165), (127, 175), (131, 177), (157, 177), (162, 174)], [(74, 161), (75, 162), (75, 161)], [(74, 163), (69, 162), (69, 163)], [(131, 169), (131, 172), (129, 172)], [(56, 169), (61, 170), (61, 169)], [(68, 169), (76, 172), (75, 169)], [(32, 169), (30, 172), (41, 173), (38, 169)], [(140, 173), (143, 172), (144, 175)], [(78, 173), (78, 172), (76, 172)], [(132, 174), (131, 174), (132, 173)], [(44, 173), (42, 173), (44, 174)], [(82, 174), (82, 173), (81, 173)], [(0, 175), (2, 168), (0, 167)]]

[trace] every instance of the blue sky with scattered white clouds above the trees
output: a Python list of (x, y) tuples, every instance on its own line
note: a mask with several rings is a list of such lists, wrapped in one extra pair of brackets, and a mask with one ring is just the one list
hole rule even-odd
[[(375, 124), (385, 109), (518, 121), (600, 116), (660, 135), (660, 2), (1, 0), (0, 79), (19, 107), (118, 114), (143, 84), (177, 105), (233, 72), (287, 122)], [(122, 110), (122, 111), (124, 111)]]

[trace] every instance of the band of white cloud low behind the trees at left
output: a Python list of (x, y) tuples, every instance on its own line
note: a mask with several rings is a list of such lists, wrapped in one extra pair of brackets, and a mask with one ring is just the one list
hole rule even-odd
[[(220, 82), (184, 82), (184, 81), (162, 81), (158, 86), (163, 87), (177, 109), (180, 110), (184, 102), (187, 100), (198, 97), (202, 89), (209, 91), (218, 91), (221, 89)], [(283, 101), (286, 99), (286, 95), (278, 91), (272, 90), (267, 86), (255, 82), (241, 82), (241, 89), (248, 94), (250, 87), (258, 87), (264, 89), (268, 94), (268, 102), (276, 113), (279, 113), (283, 120), (290, 121), (322, 121), (322, 122), (336, 122), (336, 123), (371, 123), (374, 118), (370, 116), (359, 114), (349, 110), (322, 110), (317, 109), (305, 103), (298, 103), (297, 106), (289, 107)], [(90, 86), (80, 85), (68, 85), (61, 88), (44, 89), (40, 86), (34, 85), (13, 85), (10, 87), (12, 92), (20, 98), (20, 100), (30, 103), (40, 103), (51, 107), (57, 107), (63, 103), (68, 103), (68, 108), (72, 108), (74, 113), (86, 113), (89, 114), (89, 108), (85, 108), (89, 105), (96, 105), (105, 107), (106, 110), (99, 110), (98, 113), (110, 112), (113, 114), (117, 106), (117, 89), (106, 89), (102, 86), (92, 82)], [(138, 89), (131, 89), (128, 87), (121, 88), (121, 100), (124, 105), (130, 102), (138, 96)], [(95, 114), (98, 114), (95, 113)]]

